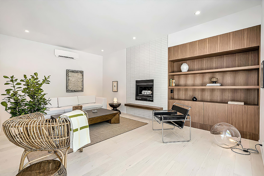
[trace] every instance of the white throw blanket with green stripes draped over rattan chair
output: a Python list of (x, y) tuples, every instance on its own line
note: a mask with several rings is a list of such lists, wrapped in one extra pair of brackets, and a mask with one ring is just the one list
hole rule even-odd
[(70, 120), (70, 148), (73, 152), (91, 143), (88, 120), (83, 111), (74, 110), (67, 112), (59, 118), (67, 118)]

